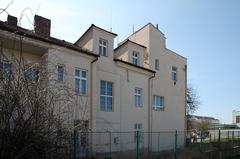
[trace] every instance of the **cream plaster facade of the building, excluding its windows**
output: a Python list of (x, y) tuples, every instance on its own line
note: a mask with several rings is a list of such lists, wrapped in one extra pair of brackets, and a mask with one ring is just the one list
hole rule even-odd
[[(16, 40), (9, 32), (1, 27), (0, 40), (6, 50), (11, 49), (8, 44)], [(87, 93), (83, 98), (88, 102), (84, 120), (89, 121), (91, 131), (135, 131), (136, 124), (141, 124), (143, 132), (184, 131), (187, 59), (166, 48), (164, 34), (151, 23), (114, 49), (116, 36), (92, 25), (75, 44), (59, 44), (51, 38), (46, 40), (34, 36), (23, 36), (23, 42), (30, 60), (44, 56), (48, 59), (49, 67), (51, 63), (63, 64), (64, 82), (73, 90), (75, 69), (87, 71)], [(107, 42), (107, 56), (98, 58), (100, 39)], [(134, 51), (138, 53), (138, 65), (132, 64)], [(156, 59), (159, 69), (155, 68)], [(173, 67), (176, 68), (174, 80)], [(100, 107), (101, 81), (113, 84), (110, 111), (101, 110)], [(136, 88), (141, 90), (140, 106), (135, 104)], [(153, 107), (154, 95), (161, 97), (161, 107)], [(74, 119), (81, 119), (81, 110), (76, 108), (74, 111)], [(148, 139), (155, 140), (151, 135)], [(169, 145), (170, 139), (164, 142)]]

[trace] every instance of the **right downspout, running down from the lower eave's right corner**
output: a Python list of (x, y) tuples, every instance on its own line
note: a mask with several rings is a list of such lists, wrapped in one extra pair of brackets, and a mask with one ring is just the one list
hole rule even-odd
[(151, 96), (152, 96), (152, 93), (151, 93), (151, 79), (153, 79), (155, 77), (155, 73), (153, 76), (149, 77), (148, 78), (148, 152), (150, 152), (150, 147), (151, 147), (151, 144), (152, 144), (152, 141), (151, 141), (151, 129), (152, 129), (152, 122), (151, 122), (151, 110), (152, 110), (152, 107), (151, 107)]

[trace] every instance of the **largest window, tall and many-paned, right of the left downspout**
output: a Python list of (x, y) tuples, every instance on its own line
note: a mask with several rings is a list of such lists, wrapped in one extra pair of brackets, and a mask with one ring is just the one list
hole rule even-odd
[(100, 82), (100, 107), (103, 111), (113, 110), (113, 83)]

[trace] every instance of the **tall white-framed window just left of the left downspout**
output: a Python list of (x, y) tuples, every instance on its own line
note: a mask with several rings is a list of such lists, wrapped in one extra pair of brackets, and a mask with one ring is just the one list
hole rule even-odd
[(75, 69), (75, 91), (79, 94), (87, 94), (87, 71)]

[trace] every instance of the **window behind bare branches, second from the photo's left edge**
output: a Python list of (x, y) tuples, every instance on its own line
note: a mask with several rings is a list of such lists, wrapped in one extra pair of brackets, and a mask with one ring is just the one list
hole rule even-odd
[(37, 81), (39, 79), (39, 71), (34, 66), (26, 66), (24, 76), (27, 81)]

